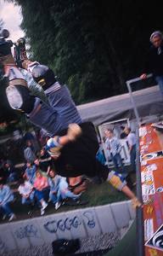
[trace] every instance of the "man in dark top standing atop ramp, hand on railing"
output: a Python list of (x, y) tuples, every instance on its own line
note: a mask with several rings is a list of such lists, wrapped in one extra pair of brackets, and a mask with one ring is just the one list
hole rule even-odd
[(146, 70), (140, 78), (146, 79), (147, 73), (153, 73), (163, 97), (163, 34), (160, 31), (155, 31), (151, 34), (149, 40), (152, 45), (146, 60)]

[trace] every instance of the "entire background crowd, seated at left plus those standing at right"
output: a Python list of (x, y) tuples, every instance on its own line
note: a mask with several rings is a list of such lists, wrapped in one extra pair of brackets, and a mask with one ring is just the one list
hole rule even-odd
[[(135, 171), (135, 137), (129, 128), (123, 129), (123, 132), (131, 149), (132, 168)], [(113, 160), (115, 171), (121, 170), (121, 173), (125, 173), (119, 139), (110, 129), (105, 130), (104, 135), (108, 155)], [(26, 132), (23, 139), (25, 165), (21, 170), (15, 168), (11, 160), (0, 160), (0, 218), (8, 218), (8, 221), (16, 218), (12, 211), (12, 202), (18, 198), (22, 206), (26, 205), (29, 215), (35, 207), (39, 208), (40, 214), (43, 215), (49, 204), (54, 210), (58, 210), (67, 200), (74, 203), (80, 201), (82, 192), (87, 189), (87, 178), (65, 178), (55, 172), (53, 160), (45, 149), (48, 137), (43, 137), (41, 143), (37, 143), (38, 140), (30, 132)], [(107, 160), (102, 147), (98, 150), (97, 158), (100, 162), (103, 161), (103, 164)], [(16, 190), (11, 189), (10, 184), (13, 183), (16, 184)]]

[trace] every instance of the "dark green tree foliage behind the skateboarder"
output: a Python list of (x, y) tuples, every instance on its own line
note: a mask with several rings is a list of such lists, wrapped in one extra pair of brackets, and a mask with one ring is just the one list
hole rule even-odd
[[(133, 0), (15, 0), (31, 58), (69, 84), (76, 103), (121, 94), (142, 72), (149, 34), (161, 9)], [(151, 19), (151, 14), (152, 18)]]

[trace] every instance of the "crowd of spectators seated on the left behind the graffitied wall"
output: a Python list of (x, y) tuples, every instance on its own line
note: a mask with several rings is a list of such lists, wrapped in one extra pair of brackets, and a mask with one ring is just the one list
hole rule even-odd
[[(21, 170), (15, 168), (10, 160), (0, 160), (0, 217), (8, 218), (8, 221), (16, 218), (12, 203), (18, 199), (22, 206), (26, 205), (30, 215), (35, 207), (40, 208), (43, 215), (48, 204), (58, 210), (69, 199), (75, 204), (79, 201), (82, 192), (87, 189), (85, 179), (82, 176), (65, 178), (56, 174), (44, 145), (41, 144), (37, 150), (35, 138), (30, 132), (25, 135), (23, 154), (25, 165)], [(12, 184), (16, 189), (11, 189)]]

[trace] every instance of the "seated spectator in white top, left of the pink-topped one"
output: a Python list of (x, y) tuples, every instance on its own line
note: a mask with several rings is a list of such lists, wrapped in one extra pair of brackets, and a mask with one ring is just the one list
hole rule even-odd
[[(34, 196), (35, 196), (33, 185), (25, 178), (20, 178), (20, 186), (18, 188), (18, 191), (21, 195), (22, 205), (25, 205), (25, 204), (28, 205), (31, 210), (31, 207), (34, 206)], [(30, 212), (28, 212), (28, 214), (30, 214)]]

